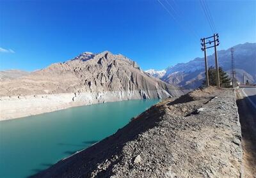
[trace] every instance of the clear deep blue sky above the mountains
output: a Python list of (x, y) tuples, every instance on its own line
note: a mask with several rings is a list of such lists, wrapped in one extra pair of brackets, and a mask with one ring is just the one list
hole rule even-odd
[[(143, 70), (202, 57), (200, 38), (212, 32), (200, 1), (159, 1), (0, 0), (0, 70), (33, 71), (85, 51), (124, 54)], [(205, 1), (219, 49), (256, 42), (255, 0)]]

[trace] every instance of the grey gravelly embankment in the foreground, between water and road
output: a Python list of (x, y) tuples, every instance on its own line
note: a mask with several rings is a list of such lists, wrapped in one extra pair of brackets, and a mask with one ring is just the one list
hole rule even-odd
[(231, 89), (197, 89), (149, 108), (114, 135), (34, 177), (240, 177)]

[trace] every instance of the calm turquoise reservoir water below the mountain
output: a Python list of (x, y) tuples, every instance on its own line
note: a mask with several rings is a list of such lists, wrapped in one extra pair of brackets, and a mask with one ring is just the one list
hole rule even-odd
[(159, 100), (68, 108), (0, 122), (0, 177), (28, 177), (115, 133)]

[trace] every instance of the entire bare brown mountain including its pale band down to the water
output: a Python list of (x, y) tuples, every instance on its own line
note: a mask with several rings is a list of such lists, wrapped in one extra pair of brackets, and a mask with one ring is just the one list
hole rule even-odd
[[(1, 118), (11, 119), (77, 105), (168, 98), (183, 92), (111, 52), (84, 52), (65, 63), (0, 82)], [(3, 107), (2, 107), (3, 106)]]

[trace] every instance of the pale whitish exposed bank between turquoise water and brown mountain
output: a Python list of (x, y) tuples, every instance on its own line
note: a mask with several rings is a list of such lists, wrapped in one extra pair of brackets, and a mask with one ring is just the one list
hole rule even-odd
[[(172, 90), (172, 96), (183, 91)], [(28, 96), (2, 96), (0, 98), (0, 121), (29, 115), (43, 114), (70, 107), (124, 100), (161, 99), (171, 95), (165, 90), (155, 91), (106, 91), (94, 93), (35, 94)]]

